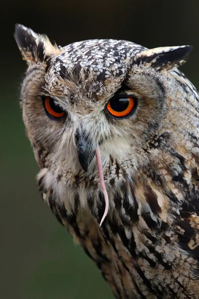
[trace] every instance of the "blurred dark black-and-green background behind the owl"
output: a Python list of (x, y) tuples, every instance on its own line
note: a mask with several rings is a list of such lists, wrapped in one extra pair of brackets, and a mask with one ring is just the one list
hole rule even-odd
[(38, 167), (19, 108), (26, 64), (13, 38), (16, 22), (62, 46), (90, 38), (148, 48), (192, 44), (182, 70), (199, 88), (199, 1), (8, 0), (0, 6), (0, 298), (112, 299), (93, 262), (37, 191)]

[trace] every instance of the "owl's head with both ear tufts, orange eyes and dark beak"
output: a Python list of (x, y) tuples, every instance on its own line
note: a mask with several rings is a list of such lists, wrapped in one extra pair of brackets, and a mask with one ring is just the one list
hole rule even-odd
[(190, 46), (147, 50), (128, 41), (88, 40), (57, 48), (22, 25), (15, 38), (29, 65), (21, 89), (27, 134), (40, 167), (56, 177), (67, 173), (65, 183), (77, 174), (95, 176), (98, 145), (104, 169), (111, 172), (115, 159), (136, 172), (149, 162), (142, 152), (151, 138), (172, 132), (170, 107), (182, 106), (172, 70)]

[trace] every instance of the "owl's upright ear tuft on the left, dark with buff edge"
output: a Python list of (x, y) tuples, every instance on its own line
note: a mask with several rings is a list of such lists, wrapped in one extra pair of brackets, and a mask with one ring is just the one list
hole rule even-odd
[(52, 45), (47, 36), (37, 34), (23, 25), (15, 25), (14, 38), (21, 51), (22, 58), (28, 64), (46, 61), (51, 54), (58, 55), (60, 50)]

